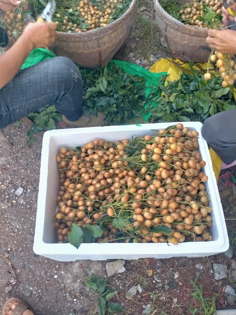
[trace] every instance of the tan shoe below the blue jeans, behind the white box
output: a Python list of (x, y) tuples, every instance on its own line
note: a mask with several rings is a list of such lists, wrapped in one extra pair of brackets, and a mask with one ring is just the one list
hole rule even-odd
[(84, 110), (82, 116), (76, 121), (70, 121), (65, 118), (64, 115), (62, 115), (64, 123), (66, 123), (68, 126), (73, 126), (76, 128), (103, 126), (104, 118), (105, 116), (102, 112), (98, 112), (98, 117), (96, 117), (87, 110)]

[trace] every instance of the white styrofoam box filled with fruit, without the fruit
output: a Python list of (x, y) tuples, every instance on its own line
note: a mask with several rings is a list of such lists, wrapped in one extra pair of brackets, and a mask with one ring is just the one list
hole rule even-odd
[(156, 135), (152, 129), (160, 129), (175, 123), (155, 123), (128, 126), (92, 127), (78, 129), (59, 129), (47, 131), (42, 142), (42, 157), (37, 205), (37, 218), (34, 238), (34, 252), (58, 261), (75, 261), (77, 259), (137, 259), (144, 257), (171, 258), (176, 256), (202, 257), (222, 253), (229, 247), (222, 205), (212, 168), (206, 141), (201, 136), (199, 122), (183, 123), (190, 130), (199, 132), (199, 148), (202, 159), (206, 161), (205, 174), (208, 181), (206, 191), (211, 199), (213, 209), (211, 242), (188, 242), (178, 245), (166, 243), (90, 243), (81, 244), (78, 249), (69, 243), (58, 244), (52, 218), (57, 208), (56, 197), (59, 190), (59, 172), (56, 155), (61, 147), (75, 148), (83, 146), (94, 139), (109, 141), (130, 139), (132, 136)]

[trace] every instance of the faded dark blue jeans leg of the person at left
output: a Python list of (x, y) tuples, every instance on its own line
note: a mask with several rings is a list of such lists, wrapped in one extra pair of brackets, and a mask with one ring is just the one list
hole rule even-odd
[(81, 117), (81, 74), (66, 57), (54, 57), (20, 70), (0, 89), (0, 129), (47, 104), (54, 104), (68, 120)]

